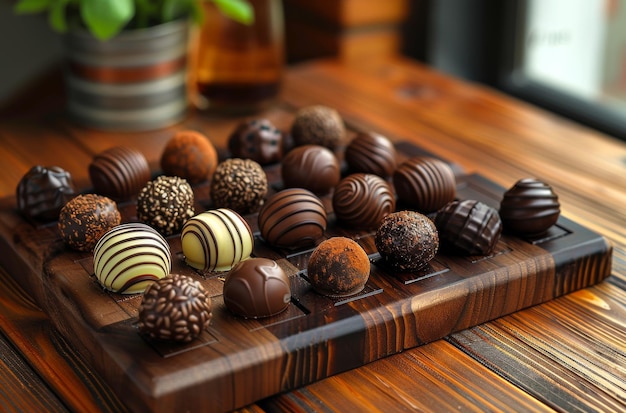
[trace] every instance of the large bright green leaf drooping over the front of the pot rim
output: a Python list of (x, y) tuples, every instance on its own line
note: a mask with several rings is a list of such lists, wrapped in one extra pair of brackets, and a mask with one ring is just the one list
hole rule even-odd
[(133, 0), (83, 0), (80, 11), (89, 31), (98, 39), (107, 40), (133, 18), (135, 3)]

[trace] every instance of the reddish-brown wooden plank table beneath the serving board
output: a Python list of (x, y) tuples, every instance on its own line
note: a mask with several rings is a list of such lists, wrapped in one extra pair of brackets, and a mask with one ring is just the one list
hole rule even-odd
[[(2, 197), (12, 196), (20, 177), (35, 164), (62, 162), (85, 188), (85, 165), (107, 147), (136, 146), (157, 168), (173, 130), (203, 128), (219, 141), (235, 121), (192, 114), (169, 130), (109, 134), (69, 124), (57, 96), (48, 98), (34, 98), (41, 99), (34, 109), (18, 105), (0, 114)], [(359, 67), (322, 61), (290, 68), (279, 106), (316, 103), (335, 107), (348, 124), (416, 143), (503, 187), (530, 176), (550, 182), (565, 216), (612, 243), (612, 275), (596, 286), (243, 410), (626, 408), (624, 142), (405, 60)], [(0, 406), (14, 411), (124, 411), (123, 398), (54, 331), (7, 270), (0, 277)]]

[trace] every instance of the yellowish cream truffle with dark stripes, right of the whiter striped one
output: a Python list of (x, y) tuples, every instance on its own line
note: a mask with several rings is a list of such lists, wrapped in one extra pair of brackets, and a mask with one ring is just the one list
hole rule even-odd
[(185, 262), (200, 271), (228, 271), (252, 253), (248, 223), (235, 211), (220, 208), (198, 214), (183, 226)]

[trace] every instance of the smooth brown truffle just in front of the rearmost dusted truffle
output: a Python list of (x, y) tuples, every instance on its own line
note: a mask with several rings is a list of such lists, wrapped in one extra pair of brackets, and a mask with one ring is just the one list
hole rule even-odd
[(283, 158), (281, 174), (285, 188), (304, 188), (316, 194), (327, 193), (341, 179), (337, 157), (319, 145), (289, 151)]

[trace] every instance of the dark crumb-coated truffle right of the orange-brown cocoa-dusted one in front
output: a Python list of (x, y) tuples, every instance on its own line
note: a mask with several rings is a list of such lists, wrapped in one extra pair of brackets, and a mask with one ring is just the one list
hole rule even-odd
[(376, 248), (397, 271), (414, 271), (435, 257), (439, 235), (433, 222), (415, 211), (399, 211), (383, 218), (376, 231)]

